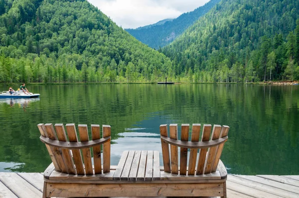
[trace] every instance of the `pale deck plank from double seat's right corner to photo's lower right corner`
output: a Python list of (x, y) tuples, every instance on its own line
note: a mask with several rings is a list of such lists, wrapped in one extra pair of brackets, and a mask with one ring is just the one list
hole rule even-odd
[(256, 190), (267, 192), (267, 193), (270, 193), (270, 194), (273, 194), (273, 195), (276, 195), (276, 196), (281, 196), (281, 197), (284, 197), (284, 198), (299, 198), (299, 195), (296, 195), (295, 193), (291, 193), (291, 192), (288, 192), (288, 191), (284, 191), (282, 189), (277, 189), (277, 188), (274, 188), (274, 187), (270, 187), (270, 186), (267, 186), (267, 185), (264, 185), (264, 184), (256, 183), (256, 182), (246, 180), (246, 179), (243, 179), (243, 178), (239, 178), (239, 177), (235, 177), (235, 176), (232, 176), (232, 175), (227, 176), (227, 179), (230, 182), (234, 182), (234, 183), (246, 186), (246, 187), (250, 187), (250, 188), (253, 188), (253, 189), (256, 189)]

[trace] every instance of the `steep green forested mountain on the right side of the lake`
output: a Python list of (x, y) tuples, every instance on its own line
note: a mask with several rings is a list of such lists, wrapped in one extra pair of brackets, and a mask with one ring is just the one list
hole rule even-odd
[(295, 80), (298, 19), (299, 0), (222, 0), (161, 51), (190, 82)]

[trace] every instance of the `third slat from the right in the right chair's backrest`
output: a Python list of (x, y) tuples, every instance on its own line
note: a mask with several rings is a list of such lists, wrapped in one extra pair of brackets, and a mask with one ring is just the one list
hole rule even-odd
[[(202, 136), (201, 136), (202, 142), (210, 140), (211, 129), (212, 129), (212, 125), (210, 125), (210, 124), (203, 125), (203, 132), (202, 132)], [(196, 175), (204, 174), (204, 165), (206, 162), (207, 152), (208, 152), (208, 149), (200, 149)]]

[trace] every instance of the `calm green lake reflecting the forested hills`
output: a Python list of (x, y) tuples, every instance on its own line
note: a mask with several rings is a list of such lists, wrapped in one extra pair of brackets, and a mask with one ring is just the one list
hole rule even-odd
[[(125, 150), (160, 152), (160, 124), (177, 123), (180, 132), (180, 124), (200, 123), (230, 126), (221, 157), (229, 173), (299, 175), (299, 86), (27, 88), (40, 93), (40, 99), (0, 99), (0, 172), (43, 172), (51, 163), (39, 140), (39, 123), (87, 124), (89, 134), (91, 124), (111, 125), (112, 165), (118, 164)], [(8, 87), (0, 85), (2, 90)]]

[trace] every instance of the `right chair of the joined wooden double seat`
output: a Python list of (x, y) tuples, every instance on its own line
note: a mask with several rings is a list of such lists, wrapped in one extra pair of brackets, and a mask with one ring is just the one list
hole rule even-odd
[[(177, 140), (177, 124), (169, 126), (169, 137), (167, 136), (167, 125), (160, 125), (164, 165), (161, 180), (180, 181), (181, 184), (188, 183), (192, 192), (197, 190), (197, 194), (179, 196), (221, 196), (226, 198), (227, 171), (220, 156), (224, 143), (228, 139), (229, 127), (214, 125), (211, 135), (212, 126), (205, 124), (201, 140), (199, 140), (200, 127), (200, 124), (193, 124), (191, 141), (188, 141), (189, 124), (181, 126), (181, 140)], [(180, 159), (178, 147), (180, 147)], [(198, 149), (200, 152), (197, 160)], [(188, 153), (189, 165), (187, 167)]]

